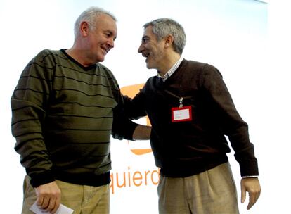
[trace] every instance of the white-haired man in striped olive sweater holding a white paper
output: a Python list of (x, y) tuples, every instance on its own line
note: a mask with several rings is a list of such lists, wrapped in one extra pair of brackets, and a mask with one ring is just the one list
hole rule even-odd
[(110, 135), (148, 139), (150, 127), (124, 117), (119, 86), (104, 61), (117, 37), (115, 17), (84, 11), (70, 49), (44, 50), (23, 70), (13, 96), (12, 132), (27, 176), (22, 213), (109, 213)]

